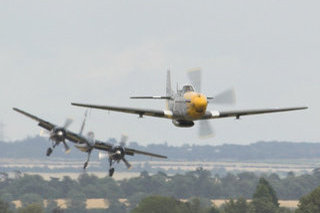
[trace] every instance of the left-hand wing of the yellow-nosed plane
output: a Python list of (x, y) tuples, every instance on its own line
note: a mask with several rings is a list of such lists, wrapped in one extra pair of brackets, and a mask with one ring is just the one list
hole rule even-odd
[(95, 108), (95, 109), (102, 109), (102, 110), (109, 110), (109, 111), (138, 114), (140, 117), (144, 115), (160, 117), (160, 118), (172, 117), (172, 112), (169, 110), (138, 109), (138, 108), (131, 108), (131, 107), (116, 107), (116, 106), (78, 104), (78, 103), (71, 103), (71, 104), (74, 106), (80, 106), (80, 107), (88, 107), (88, 108)]

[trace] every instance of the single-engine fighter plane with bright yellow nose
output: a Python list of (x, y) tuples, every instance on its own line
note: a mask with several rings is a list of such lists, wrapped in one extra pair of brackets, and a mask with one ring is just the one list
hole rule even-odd
[(253, 110), (230, 110), (218, 111), (208, 110), (209, 102), (215, 104), (233, 104), (235, 95), (233, 90), (227, 90), (215, 97), (208, 97), (200, 93), (201, 89), (201, 70), (196, 68), (189, 72), (189, 78), (192, 85), (184, 85), (182, 89), (174, 92), (171, 89), (170, 71), (167, 72), (166, 95), (165, 96), (136, 96), (132, 99), (164, 99), (167, 102), (165, 110), (140, 109), (131, 107), (117, 107), (105, 105), (92, 105), (82, 103), (72, 103), (74, 106), (96, 108), (108, 111), (118, 111), (125, 113), (138, 114), (140, 117), (153, 116), (159, 118), (171, 119), (172, 123), (177, 127), (192, 127), (194, 121), (200, 120), (200, 137), (207, 137), (213, 134), (213, 130), (208, 119), (235, 117), (239, 119), (244, 115), (255, 115), (262, 113), (274, 113), (293, 110), (303, 110), (307, 107), (290, 107), (290, 108), (269, 108), (269, 109), (253, 109)]

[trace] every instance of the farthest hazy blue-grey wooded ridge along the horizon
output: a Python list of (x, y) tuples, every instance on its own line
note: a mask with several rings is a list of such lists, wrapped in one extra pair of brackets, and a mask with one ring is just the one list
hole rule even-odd
[[(117, 143), (114, 138), (107, 142)], [(183, 143), (183, 142), (182, 142)], [(71, 144), (71, 143), (70, 143)], [(181, 144), (181, 143), (180, 143)], [(214, 144), (214, 143), (212, 143)], [(26, 138), (10, 143), (0, 142), (0, 156), (3, 158), (46, 158), (46, 149), (50, 142), (43, 137)], [(139, 145), (137, 142), (128, 144), (131, 148), (165, 154), (170, 160), (187, 161), (222, 161), (222, 160), (268, 160), (268, 159), (315, 159), (320, 157), (319, 143), (290, 143), (290, 142), (257, 142), (249, 145), (182, 145), (172, 146), (164, 144)], [(72, 146), (71, 146), (72, 147)], [(73, 150), (70, 155), (65, 155), (61, 149), (53, 152), (52, 157), (66, 159), (82, 159), (86, 156), (78, 150)], [(93, 153), (93, 159), (97, 159), (97, 152)], [(146, 159), (143, 156), (135, 156), (132, 160)]]

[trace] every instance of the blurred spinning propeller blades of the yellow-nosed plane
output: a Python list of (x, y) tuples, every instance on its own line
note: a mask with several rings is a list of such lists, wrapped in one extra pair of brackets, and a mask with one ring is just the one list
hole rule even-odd
[[(196, 90), (201, 93), (201, 68), (194, 68), (188, 72), (189, 81)], [(206, 97), (207, 103), (234, 105), (236, 96), (234, 89), (225, 90), (214, 97)], [(211, 137), (214, 135), (213, 128), (208, 120), (199, 121), (199, 136), (201, 138)]]

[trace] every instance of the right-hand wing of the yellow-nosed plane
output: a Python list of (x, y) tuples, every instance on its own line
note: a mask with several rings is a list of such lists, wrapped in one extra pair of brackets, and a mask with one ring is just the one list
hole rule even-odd
[(275, 112), (287, 112), (294, 110), (304, 110), (308, 107), (291, 107), (291, 108), (270, 108), (270, 109), (252, 109), (252, 110), (235, 110), (235, 111), (208, 111), (203, 119), (216, 119), (216, 118), (226, 118), (226, 117), (236, 117), (239, 119), (241, 116), (245, 115), (257, 115), (264, 113), (275, 113)]

